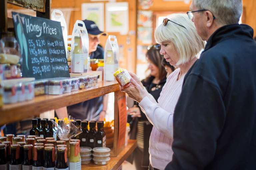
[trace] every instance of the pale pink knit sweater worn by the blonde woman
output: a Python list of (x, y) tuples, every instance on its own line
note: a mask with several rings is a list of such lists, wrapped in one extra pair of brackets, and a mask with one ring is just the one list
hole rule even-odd
[(177, 68), (168, 76), (158, 103), (145, 88), (147, 97), (139, 103), (148, 120), (154, 125), (149, 139), (150, 164), (160, 170), (172, 160), (173, 113), (184, 79), (182, 76), (177, 81), (179, 71)]

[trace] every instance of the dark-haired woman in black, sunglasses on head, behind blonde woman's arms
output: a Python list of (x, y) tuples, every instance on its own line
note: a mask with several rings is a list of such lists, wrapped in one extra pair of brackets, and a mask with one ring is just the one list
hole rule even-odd
[[(148, 47), (146, 58), (148, 60), (147, 70), (150, 70), (150, 75), (141, 81), (148, 93), (151, 94), (156, 101), (166, 82), (166, 71), (163, 65), (161, 65), (164, 56), (160, 54), (160, 49), (160, 44), (153, 44)], [(131, 118), (133, 118), (133, 134), (131, 134), (133, 137), (131, 138), (135, 139), (136, 136), (138, 141), (138, 147), (135, 149), (133, 155), (136, 169), (147, 170), (149, 165), (149, 137), (153, 125), (150, 124), (146, 115), (140, 110), (138, 102), (136, 102), (134, 107), (130, 108), (127, 112), (127, 114), (131, 115)]]

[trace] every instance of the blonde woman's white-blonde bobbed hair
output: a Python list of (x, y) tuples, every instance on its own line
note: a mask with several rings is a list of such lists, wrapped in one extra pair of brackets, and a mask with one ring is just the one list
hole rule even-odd
[(183, 65), (204, 48), (205, 43), (197, 34), (194, 23), (187, 14), (171, 14), (167, 18), (177, 24), (168, 21), (167, 25), (159, 25), (155, 31), (155, 39), (158, 43), (170, 42), (179, 55), (176, 66)]

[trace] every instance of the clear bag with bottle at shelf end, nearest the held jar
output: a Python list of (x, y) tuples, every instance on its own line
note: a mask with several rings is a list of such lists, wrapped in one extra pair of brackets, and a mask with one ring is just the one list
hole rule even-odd
[(116, 36), (108, 36), (104, 51), (104, 81), (114, 81), (119, 68), (119, 46)]

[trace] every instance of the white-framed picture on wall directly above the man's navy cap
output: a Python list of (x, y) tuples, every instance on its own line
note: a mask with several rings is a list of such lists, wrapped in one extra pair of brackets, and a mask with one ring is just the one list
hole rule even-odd
[(91, 20), (104, 31), (104, 3), (82, 3), (82, 20)]

